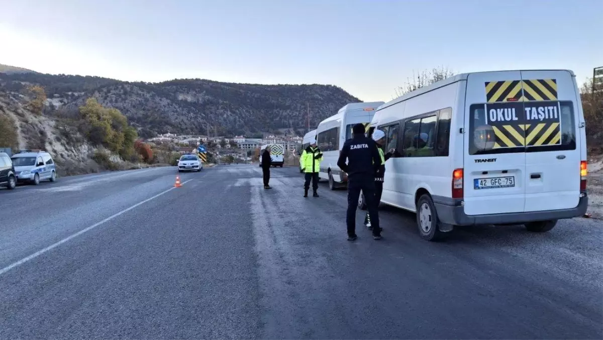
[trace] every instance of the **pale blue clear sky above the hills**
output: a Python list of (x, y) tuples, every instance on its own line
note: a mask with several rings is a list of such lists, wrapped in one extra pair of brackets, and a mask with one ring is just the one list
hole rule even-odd
[(0, 0), (0, 63), (161, 82), (336, 85), (388, 101), (413, 72), (603, 66), (601, 0)]

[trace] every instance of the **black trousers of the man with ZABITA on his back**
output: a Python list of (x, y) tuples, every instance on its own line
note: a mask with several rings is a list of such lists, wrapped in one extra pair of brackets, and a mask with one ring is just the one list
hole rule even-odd
[(380, 236), (378, 204), (375, 204), (375, 179), (372, 176), (362, 176), (361, 178), (350, 178), (347, 186), (347, 235), (356, 236), (356, 208), (358, 208), (358, 198), (360, 192), (364, 193), (364, 199), (367, 202), (368, 214), (371, 217), (373, 226), (373, 235)]

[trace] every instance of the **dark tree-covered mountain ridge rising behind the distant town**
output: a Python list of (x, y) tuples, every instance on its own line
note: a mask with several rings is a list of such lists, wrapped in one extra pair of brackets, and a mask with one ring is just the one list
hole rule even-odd
[(86, 98), (119, 109), (141, 136), (156, 133), (241, 135), (308, 127), (359, 100), (332, 85), (260, 85), (176, 79), (161, 83), (122, 82), (80, 75), (36, 72), (0, 73), (0, 91), (22, 92), (42, 86), (45, 115), (77, 117)]

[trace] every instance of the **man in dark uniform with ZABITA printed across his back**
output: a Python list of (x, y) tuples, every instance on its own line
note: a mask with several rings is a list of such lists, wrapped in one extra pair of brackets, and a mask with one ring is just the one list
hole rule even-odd
[[(373, 239), (381, 239), (381, 228), (379, 228), (379, 214), (377, 204), (374, 202), (374, 173), (381, 164), (377, 144), (364, 135), (364, 125), (356, 124), (352, 128), (353, 137), (343, 144), (337, 165), (347, 173), (347, 239), (356, 240), (356, 208), (360, 192), (364, 193), (367, 200), (368, 214), (373, 226)], [(347, 164), (346, 164), (347, 159)]]

